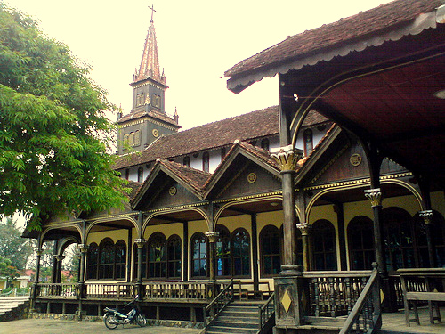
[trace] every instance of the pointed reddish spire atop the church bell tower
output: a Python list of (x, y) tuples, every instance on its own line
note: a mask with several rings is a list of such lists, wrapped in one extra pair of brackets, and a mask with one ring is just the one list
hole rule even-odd
[(134, 76), (134, 82), (150, 77), (160, 83), (165, 83), (166, 78), (161, 77), (159, 71), (158, 45), (156, 42), (155, 25), (153, 23), (153, 12), (156, 11), (152, 7), (149, 8), (151, 9), (149, 31), (147, 32), (147, 37), (145, 38), (141, 66), (139, 67), (139, 71), (137, 71), (136, 75)]

